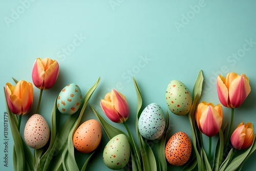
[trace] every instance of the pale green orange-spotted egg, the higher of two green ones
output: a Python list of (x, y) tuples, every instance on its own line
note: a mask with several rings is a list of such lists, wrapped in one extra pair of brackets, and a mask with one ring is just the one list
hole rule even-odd
[(193, 102), (187, 87), (179, 80), (169, 82), (165, 98), (169, 110), (176, 115), (188, 114)]

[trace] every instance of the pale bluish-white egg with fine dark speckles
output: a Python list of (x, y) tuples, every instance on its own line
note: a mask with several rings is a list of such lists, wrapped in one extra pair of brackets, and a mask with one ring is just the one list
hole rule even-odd
[(138, 129), (142, 137), (148, 140), (159, 138), (165, 128), (165, 116), (160, 105), (151, 103), (142, 111)]

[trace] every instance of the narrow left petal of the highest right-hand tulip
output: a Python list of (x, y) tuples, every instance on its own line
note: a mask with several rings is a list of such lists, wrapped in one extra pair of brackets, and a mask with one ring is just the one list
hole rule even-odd
[(228, 88), (225, 85), (225, 78), (219, 75), (217, 77), (217, 92), (218, 92), (218, 97), (221, 102), (225, 107), (229, 108), (228, 104)]

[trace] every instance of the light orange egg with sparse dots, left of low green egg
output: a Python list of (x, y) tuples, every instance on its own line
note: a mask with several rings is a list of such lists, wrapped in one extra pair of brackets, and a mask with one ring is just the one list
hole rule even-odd
[(101, 127), (97, 120), (83, 122), (73, 136), (74, 147), (82, 153), (90, 153), (96, 149), (101, 140)]

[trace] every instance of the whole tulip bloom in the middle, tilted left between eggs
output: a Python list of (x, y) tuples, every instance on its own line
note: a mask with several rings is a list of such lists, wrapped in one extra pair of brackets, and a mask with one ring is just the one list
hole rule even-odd
[(100, 106), (105, 115), (113, 122), (123, 123), (129, 117), (129, 106), (124, 95), (112, 89), (104, 99), (101, 99)]

